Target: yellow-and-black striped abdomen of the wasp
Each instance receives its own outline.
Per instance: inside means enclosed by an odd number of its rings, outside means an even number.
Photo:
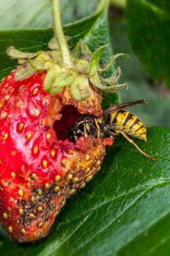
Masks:
[[[137,116],[126,110],[114,111],[109,115],[109,122],[116,132],[123,131],[127,135],[147,140],[147,130]]]

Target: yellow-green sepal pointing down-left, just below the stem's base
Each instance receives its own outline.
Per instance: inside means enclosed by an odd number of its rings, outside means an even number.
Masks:
[[[71,85],[76,80],[76,75],[70,72],[59,73],[54,79],[51,87],[48,89],[49,93],[57,93],[62,91],[64,87]]]

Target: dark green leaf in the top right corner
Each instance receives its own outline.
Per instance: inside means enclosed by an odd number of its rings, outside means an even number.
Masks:
[[[128,0],[126,19],[129,40],[144,68],[154,80],[170,86],[170,2]]]

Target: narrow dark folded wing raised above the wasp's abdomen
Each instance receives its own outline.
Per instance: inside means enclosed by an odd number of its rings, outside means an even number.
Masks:
[[[116,106],[109,107],[109,109],[105,109],[103,111],[103,115],[108,115],[108,114],[110,114],[114,111],[121,110],[121,109],[126,109],[127,107],[132,107],[132,106],[137,105],[137,104],[147,104],[147,103],[148,103],[148,101],[146,99],[143,99],[143,100],[137,100],[137,101],[131,101],[131,102],[119,104],[119,105],[116,105]]]

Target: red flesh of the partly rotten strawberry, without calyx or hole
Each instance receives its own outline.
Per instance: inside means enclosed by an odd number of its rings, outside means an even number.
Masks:
[[[0,87],[0,219],[18,242],[47,235],[66,199],[92,179],[112,144],[92,137],[69,142],[66,130],[79,113],[102,114],[101,95],[92,89],[93,101],[77,102],[67,87],[51,96],[43,90],[44,76],[16,81],[12,72]]]

